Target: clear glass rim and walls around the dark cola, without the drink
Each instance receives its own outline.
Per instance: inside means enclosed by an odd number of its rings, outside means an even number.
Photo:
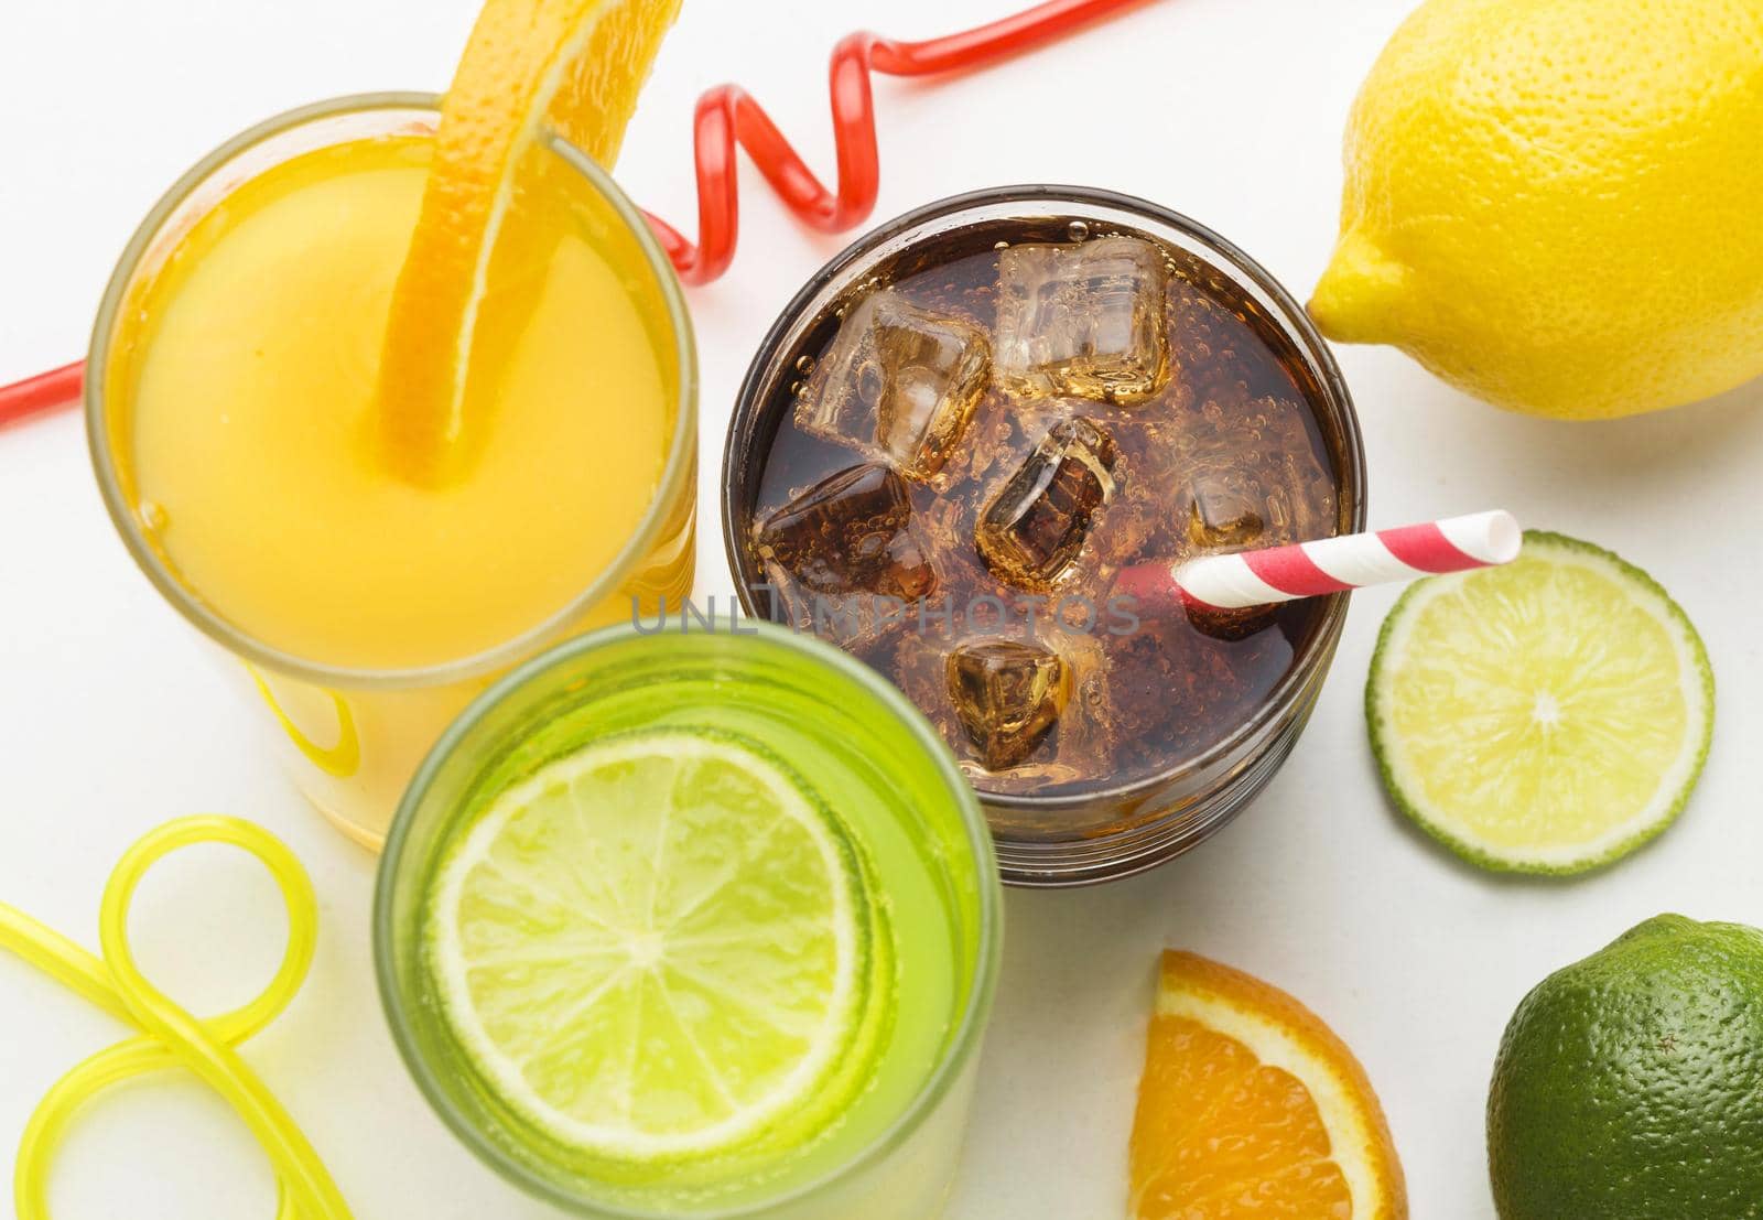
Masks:
[[[1146,236],[1241,298],[1245,316],[1278,344],[1315,416],[1333,465],[1336,529],[1365,529],[1365,453],[1347,386],[1303,309],[1264,268],[1211,229],[1144,199],[1086,187],[1000,187],[927,205],[862,236],[802,287],[760,346],[730,420],[721,481],[723,536],[748,614],[769,612],[767,575],[751,547],[762,469],[793,398],[792,383],[799,384],[823,353],[843,310],[876,284],[941,266],[950,245],[975,254],[1005,242],[1061,243],[1072,233]],[[1268,696],[1224,726],[1215,746],[1160,774],[1053,795],[989,792],[975,779],[1005,882],[1105,882],[1153,867],[1216,832],[1296,746],[1345,617],[1347,594],[1322,599]]]

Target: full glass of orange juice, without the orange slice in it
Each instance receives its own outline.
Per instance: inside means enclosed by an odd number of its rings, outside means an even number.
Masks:
[[[220,645],[301,792],[377,846],[418,762],[513,663],[691,587],[696,363],[642,213],[527,153],[483,284],[460,472],[376,450],[393,282],[437,99],[280,115],[136,231],[92,333],[86,430],[141,571]]]

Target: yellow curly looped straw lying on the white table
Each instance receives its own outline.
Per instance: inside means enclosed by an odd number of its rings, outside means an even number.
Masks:
[[[194,843],[226,843],[257,857],[287,904],[287,952],[263,993],[219,1017],[199,1019],[146,980],[129,948],[129,903],[146,871],[162,857]],[[99,1051],[56,1081],[25,1127],[12,1178],[18,1220],[48,1220],[48,1171],[74,1111],[95,1093],[130,1075],[183,1067],[238,1111],[275,1167],[279,1220],[349,1220],[324,1162],[312,1144],[233,1049],[273,1021],[300,991],[312,964],[319,917],[307,871],[268,830],[238,818],[197,816],[167,822],[123,853],[104,885],[99,943],[104,957],[0,903],[0,947],[78,991],[139,1037]]]

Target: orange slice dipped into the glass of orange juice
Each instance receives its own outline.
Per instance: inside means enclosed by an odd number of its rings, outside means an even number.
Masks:
[[[490,254],[548,127],[610,166],[681,0],[488,0],[441,108],[416,234],[391,300],[379,432],[391,467],[435,481],[460,448]]]

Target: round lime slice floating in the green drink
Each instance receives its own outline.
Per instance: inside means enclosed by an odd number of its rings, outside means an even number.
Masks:
[[[487,1082],[624,1164],[800,1134],[850,1100],[876,933],[816,795],[758,744],[679,728],[601,739],[495,797],[428,911],[448,1021]]]

